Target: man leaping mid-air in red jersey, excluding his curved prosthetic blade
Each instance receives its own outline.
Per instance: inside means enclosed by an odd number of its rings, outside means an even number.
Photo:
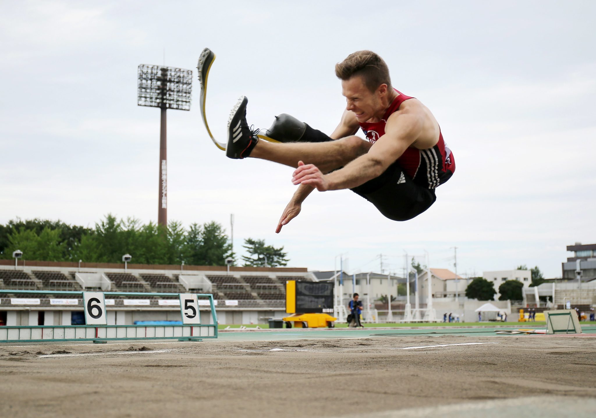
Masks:
[[[265,132],[280,143],[259,141],[259,130],[246,122],[248,99],[242,97],[232,109],[229,158],[261,158],[297,167],[292,182],[299,188],[276,232],[300,213],[302,202],[315,188],[350,189],[389,219],[412,219],[434,203],[434,189],[455,171],[453,154],[433,114],[392,87],[383,58],[358,51],[335,69],[347,106],[331,136],[281,114]],[[368,141],[354,136],[359,128]]]

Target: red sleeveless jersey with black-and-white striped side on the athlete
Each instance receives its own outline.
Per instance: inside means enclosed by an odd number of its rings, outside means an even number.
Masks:
[[[395,89],[394,89],[395,90]],[[385,124],[390,114],[399,110],[399,106],[410,96],[395,90],[398,96],[393,99],[393,102],[387,108],[383,118],[378,122],[363,122],[360,124],[362,132],[367,136],[371,144],[377,142],[381,136],[385,135]],[[443,141],[443,134],[439,128],[439,142],[429,149],[418,149],[413,146],[408,147],[401,157],[398,158],[398,163],[401,169],[408,174],[421,186],[434,189],[436,186],[442,185],[455,171],[455,160],[451,149],[445,145]]]

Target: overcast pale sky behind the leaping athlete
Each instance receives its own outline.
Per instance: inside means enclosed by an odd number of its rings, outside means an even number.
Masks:
[[[93,226],[107,213],[157,220],[159,110],[136,105],[136,67],[194,70],[190,112],[168,111],[169,220],[216,220],[234,245],[284,245],[290,266],[402,272],[430,254],[458,273],[538,265],[561,275],[566,245],[596,242],[596,2],[0,2],[0,223]],[[330,133],[344,98],[334,64],[359,49],[426,104],[457,162],[437,202],[408,222],[350,191],[314,192],[274,233],[292,169],[228,160],[198,107],[198,54],[217,54],[207,115],[249,123],[290,113]],[[375,260],[376,257],[376,260]]]

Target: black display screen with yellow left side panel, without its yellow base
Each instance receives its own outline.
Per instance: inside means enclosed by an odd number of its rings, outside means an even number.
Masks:
[[[287,313],[333,313],[333,288],[329,282],[287,280],[285,310]]]

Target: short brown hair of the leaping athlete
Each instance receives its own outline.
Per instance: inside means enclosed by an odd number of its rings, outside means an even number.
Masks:
[[[391,87],[389,68],[383,58],[373,51],[356,51],[336,64],[336,76],[347,80],[353,76],[362,76],[367,88],[374,92],[381,84]]]

